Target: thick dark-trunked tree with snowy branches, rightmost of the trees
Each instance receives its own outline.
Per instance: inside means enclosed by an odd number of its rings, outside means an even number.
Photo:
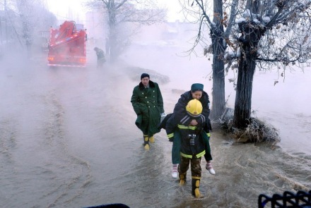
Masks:
[[[240,54],[234,113],[236,128],[245,128],[250,121],[256,66],[261,70],[274,66],[283,68],[284,75],[291,65],[303,68],[310,61],[310,6],[310,0],[240,1],[237,27],[232,35],[235,54]]]

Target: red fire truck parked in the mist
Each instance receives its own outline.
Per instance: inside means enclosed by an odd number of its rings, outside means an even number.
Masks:
[[[85,67],[86,30],[74,21],[65,21],[50,30],[48,66]]]

